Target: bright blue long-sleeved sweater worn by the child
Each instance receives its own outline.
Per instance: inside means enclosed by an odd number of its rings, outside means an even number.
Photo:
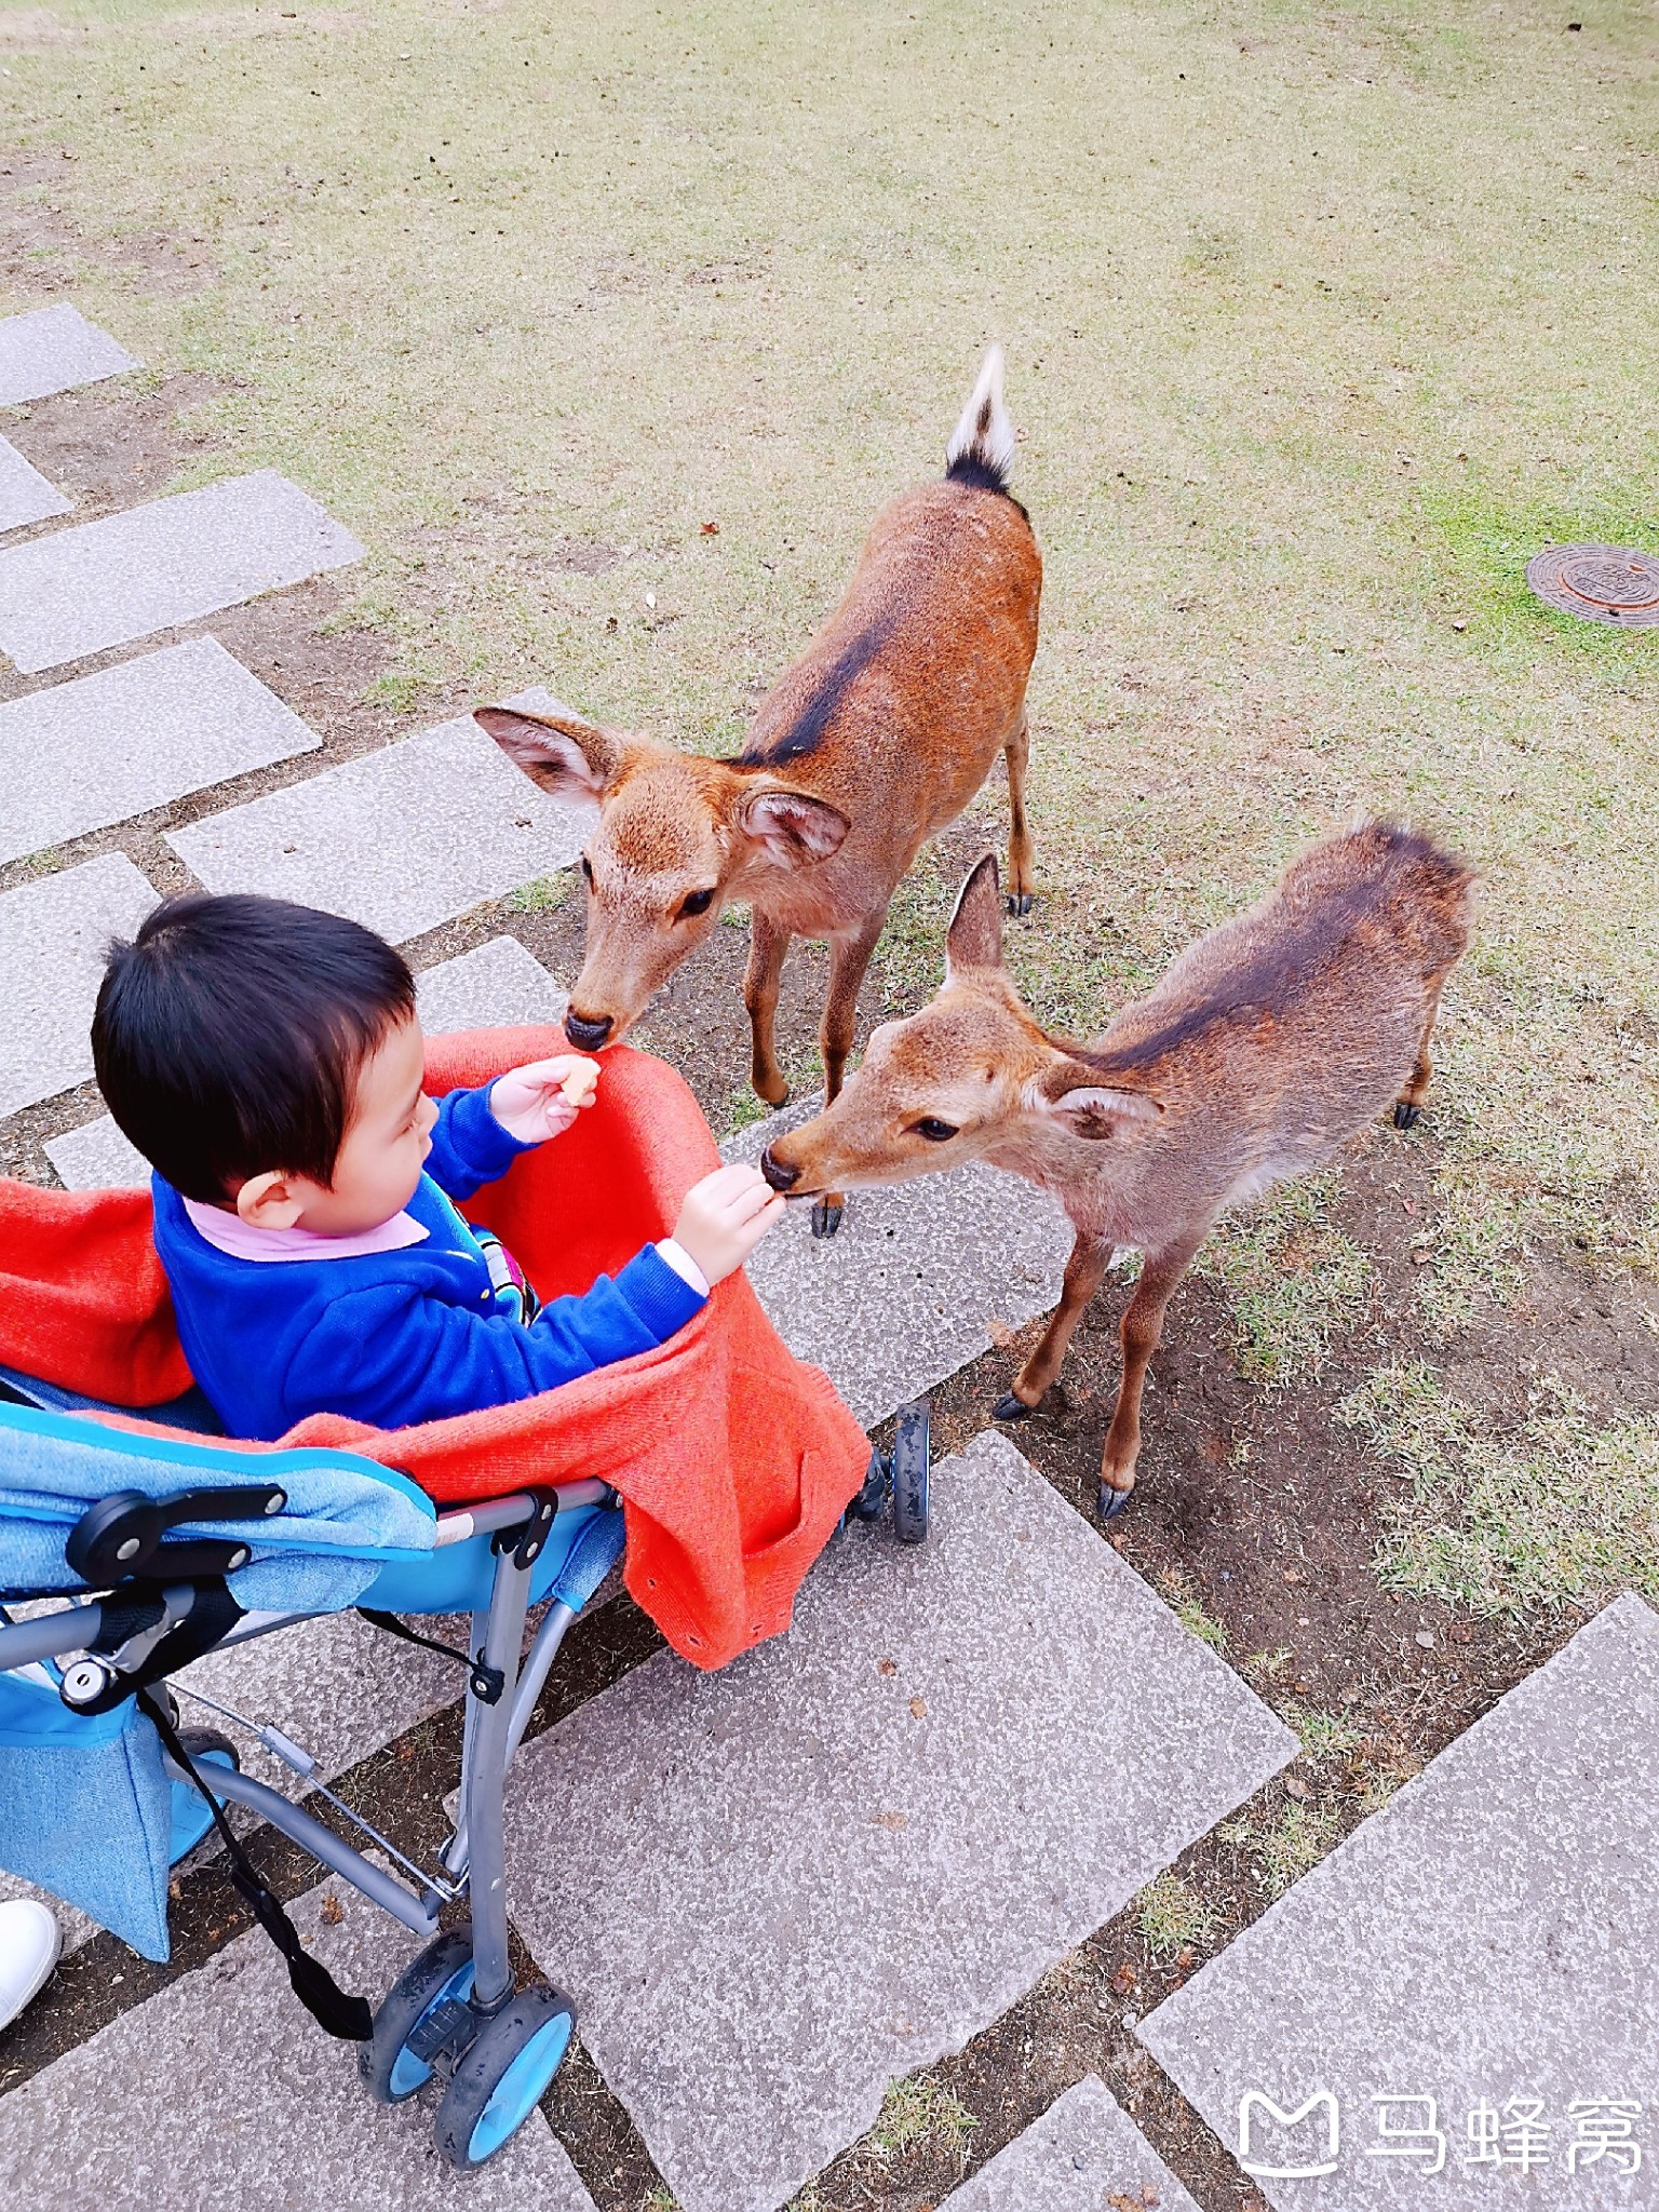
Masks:
[[[407,1208],[425,1241],[347,1259],[221,1252],[179,1192],[153,1177],[155,1250],[179,1340],[226,1431],[276,1438],[307,1413],[407,1429],[533,1398],[681,1329],[703,1298],[655,1245],[580,1298],[555,1298],[529,1325],[518,1318],[520,1292],[491,1272],[449,1199],[493,1183],[524,1150],[491,1115],[489,1086],[451,1091]]]

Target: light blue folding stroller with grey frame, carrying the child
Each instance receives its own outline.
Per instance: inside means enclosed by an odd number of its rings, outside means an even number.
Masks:
[[[250,1458],[217,1444],[195,1391],[146,1413],[199,1444],[88,1411],[122,1409],[0,1369],[0,1867],[166,1958],[168,1867],[215,1827],[294,1993],[327,2033],[361,2044],[369,2095],[400,2104],[438,2075],[438,2148],[482,2166],[529,2119],[575,2028],[562,1991],[513,1986],[502,1798],[564,1632],[622,1555],[617,1493],[588,1480],[449,1511],[349,1451]],[[453,1652],[467,1670],[460,1814],[429,1867],[332,1798],[387,1869],[243,1774],[230,1739],[184,1728],[168,1690],[206,1650],[347,1606],[418,1644],[434,1639],[398,1615],[471,1617],[469,1648]],[[281,1730],[259,1739],[314,1774]],[[226,1805],[429,1938],[376,2011],[301,1949]],[[456,1918],[462,1905],[469,1918]]]

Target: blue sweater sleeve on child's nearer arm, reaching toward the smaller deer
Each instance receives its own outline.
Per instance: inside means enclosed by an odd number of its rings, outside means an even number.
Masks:
[[[301,1340],[285,1378],[288,1418],[327,1411],[409,1429],[511,1405],[653,1352],[701,1305],[655,1245],[615,1279],[602,1274],[582,1296],[544,1305],[529,1329],[427,1296],[418,1283],[380,1283],[334,1298]]]

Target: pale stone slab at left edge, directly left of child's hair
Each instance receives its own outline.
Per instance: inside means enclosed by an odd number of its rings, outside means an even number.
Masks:
[[[104,953],[153,905],[150,885],[115,852],[0,894],[0,1115],[93,1073]]]

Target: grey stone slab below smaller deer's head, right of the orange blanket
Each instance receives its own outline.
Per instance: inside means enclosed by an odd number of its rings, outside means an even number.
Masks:
[[[759,1159],[818,1113],[803,1099],[721,1146]],[[748,1263],[750,1283],[796,1358],[823,1367],[865,1427],[942,1383],[1009,1327],[1060,1298],[1071,1223],[1033,1183],[1000,1168],[958,1168],[891,1190],[854,1190],[841,1230],[814,1239],[792,1206]]]

